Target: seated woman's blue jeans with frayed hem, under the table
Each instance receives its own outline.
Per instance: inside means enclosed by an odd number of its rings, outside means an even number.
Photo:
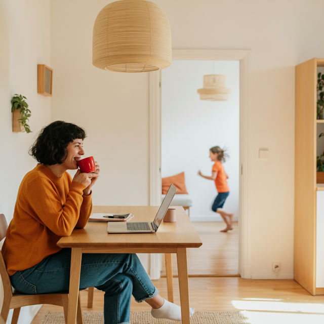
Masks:
[[[62,249],[35,266],[10,277],[12,286],[25,294],[69,290],[71,249]],[[83,254],[80,288],[105,292],[105,324],[129,323],[131,297],[137,302],[153,298],[158,290],[136,254]]]

